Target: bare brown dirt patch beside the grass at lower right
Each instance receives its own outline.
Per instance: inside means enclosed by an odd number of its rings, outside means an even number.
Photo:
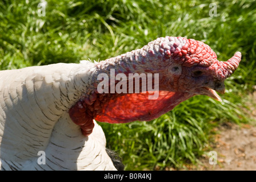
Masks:
[[[218,163],[211,165],[209,156],[204,156],[197,170],[256,170],[256,92],[249,96],[249,101],[250,108],[253,108],[250,115],[255,122],[241,126],[223,123],[219,126],[213,147]]]

